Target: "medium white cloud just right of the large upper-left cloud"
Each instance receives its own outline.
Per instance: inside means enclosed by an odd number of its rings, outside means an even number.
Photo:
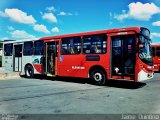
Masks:
[[[44,13],[42,15],[42,18],[45,20],[48,20],[50,22],[56,23],[57,22],[57,18],[53,13]]]

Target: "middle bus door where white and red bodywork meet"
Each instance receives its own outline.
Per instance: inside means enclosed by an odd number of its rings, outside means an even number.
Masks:
[[[58,41],[45,43],[45,73],[54,76],[57,73]]]

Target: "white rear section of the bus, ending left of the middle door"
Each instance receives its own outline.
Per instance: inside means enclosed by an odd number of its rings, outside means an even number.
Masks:
[[[8,71],[20,72],[26,77],[32,77],[32,71],[34,71],[34,74],[42,74],[43,46],[41,40],[4,42],[2,67]]]

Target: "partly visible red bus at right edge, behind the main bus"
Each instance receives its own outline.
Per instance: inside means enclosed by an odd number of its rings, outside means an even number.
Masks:
[[[154,71],[160,71],[160,44],[152,44]]]

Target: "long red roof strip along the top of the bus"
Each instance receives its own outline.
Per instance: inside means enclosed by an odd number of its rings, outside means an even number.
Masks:
[[[108,30],[99,30],[99,31],[92,31],[92,32],[82,32],[82,33],[74,33],[74,34],[64,34],[64,35],[58,35],[58,36],[48,36],[48,37],[42,37],[40,40],[47,40],[47,39],[60,39],[64,37],[74,37],[74,36],[83,36],[83,35],[90,35],[90,34],[103,34],[103,33],[112,33],[112,32],[124,32],[124,31],[138,31],[140,26],[135,27],[126,27],[126,28],[115,28],[115,29],[108,29]],[[146,28],[147,29],[147,28]]]

